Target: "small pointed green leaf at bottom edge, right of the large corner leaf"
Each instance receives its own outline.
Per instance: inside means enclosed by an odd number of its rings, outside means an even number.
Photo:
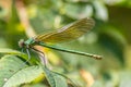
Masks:
[[[51,87],[68,87],[64,77],[60,76],[57,73],[49,71],[47,67],[44,67],[45,75]]]

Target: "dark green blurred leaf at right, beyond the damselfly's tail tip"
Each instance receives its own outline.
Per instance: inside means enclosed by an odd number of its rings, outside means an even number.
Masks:
[[[122,34],[112,26],[106,25],[100,33],[99,40],[106,49],[110,50],[123,64],[123,48],[127,41]]]

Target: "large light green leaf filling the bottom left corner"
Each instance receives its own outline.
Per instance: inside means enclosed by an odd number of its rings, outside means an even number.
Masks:
[[[0,87],[13,87],[29,83],[43,73],[38,65],[27,66],[15,55],[4,55],[0,60]]]

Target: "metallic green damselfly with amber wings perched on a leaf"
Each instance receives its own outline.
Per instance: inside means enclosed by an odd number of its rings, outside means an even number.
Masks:
[[[55,49],[58,51],[75,53],[75,54],[80,54],[80,55],[86,55],[90,58],[94,58],[96,60],[100,60],[102,55],[58,48],[58,47],[50,45],[50,44],[67,42],[67,41],[71,41],[73,39],[78,39],[79,37],[86,34],[90,29],[92,29],[94,27],[94,25],[95,25],[95,22],[93,18],[82,18],[82,20],[73,22],[56,32],[48,33],[48,34],[40,34],[35,38],[27,39],[26,41],[21,40],[21,41],[19,41],[19,46],[21,48],[25,48],[27,50],[27,53],[28,53],[28,49],[34,49],[35,51],[38,51],[37,49],[34,48],[34,46],[37,45],[37,46],[43,46],[46,48]],[[28,58],[31,58],[31,57],[28,55]]]

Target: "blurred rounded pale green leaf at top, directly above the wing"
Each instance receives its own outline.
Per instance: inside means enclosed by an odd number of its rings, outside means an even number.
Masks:
[[[63,10],[66,15],[78,20],[93,15],[93,7],[90,4],[68,3],[66,4]]]

